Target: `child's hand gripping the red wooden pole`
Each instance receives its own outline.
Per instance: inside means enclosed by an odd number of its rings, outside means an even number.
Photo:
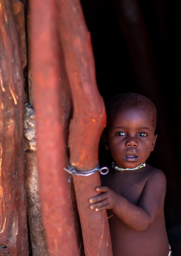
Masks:
[[[90,209],[95,211],[113,209],[117,202],[117,194],[106,186],[96,188],[101,194],[89,199]]]

